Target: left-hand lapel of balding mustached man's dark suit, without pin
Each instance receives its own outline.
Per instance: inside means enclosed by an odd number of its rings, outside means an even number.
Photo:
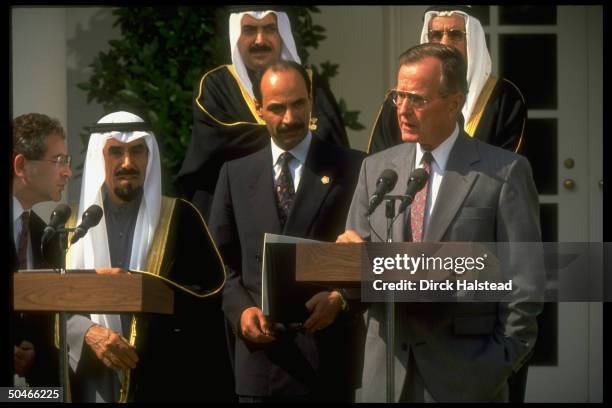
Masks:
[[[247,196],[253,209],[253,219],[260,225],[261,231],[278,234],[281,229],[272,181],[274,176],[270,148],[264,148],[253,156],[252,168],[254,171],[249,177]]]

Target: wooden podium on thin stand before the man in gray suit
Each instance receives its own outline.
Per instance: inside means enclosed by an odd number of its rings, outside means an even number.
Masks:
[[[497,256],[495,256],[495,252],[491,251],[492,248],[487,247],[485,243],[368,242],[337,244],[325,242],[290,242],[289,240],[283,240],[282,238],[279,238],[276,241],[277,242],[266,244],[264,249],[265,257],[268,258],[268,269],[272,269],[272,276],[275,274],[277,276],[280,274],[291,274],[291,272],[293,272],[292,277],[295,279],[294,283],[296,285],[317,284],[328,288],[359,288],[362,289],[361,298],[365,299],[366,301],[368,301],[368,298],[364,297],[364,295],[367,294],[367,291],[363,292],[364,286],[362,286],[362,284],[365,283],[365,286],[368,286],[369,283],[382,277],[390,279],[391,281],[399,280],[399,278],[406,278],[406,281],[412,280],[412,283],[419,279],[439,282],[447,278],[453,278],[452,275],[455,273],[455,269],[452,269],[452,271],[436,271],[436,268],[427,267],[423,268],[422,271],[419,270],[417,274],[412,275],[406,269],[403,269],[403,267],[386,266],[387,270],[385,270],[384,274],[382,271],[379,272],[383,275],[375,275],[376,272],[373,272],[372,270],[372,261],[375,258],[387,258],[388,260],[392,261],[395,259],[395,255],[399,257],[400,254],[402,256],[405,255],[412,258],[421,259],[428,257],[447,259],[447,257],[465,257],[466,255],[478,257],[484,255],[483,259],[486,259],[486,267],[483,267],[483,269],[480,270],[476,268],[476,271],[465,271],[465,274],[464,272],[461,272],[461,277],[467,280],[488,279],[492,282],[502,278],[500,260],[497,258]],[[278,262],[277,259],[282,257],[293,261],[293,264],[291,265],[287,261]],[[401,259],[403,261],[403,258]],[[276,264],[279,265],[277,266]],[[402,263],[401,265],[405,264]],[[274,272],[275,268],[279,270]],[[270,276],[270,270],[266,270],[266,273],[268,276]],[[270,279],[270,281],[274,281],[274,279]],[[279,282],[279,280],[276,280],[276,282]],[[414,293],[418,295],[420,293],[418,290],[418,285],[416,287],[417,290],[414,290]],[[284,287],[280,287],[275,291],[270,290],[269,292],[282,292],[284,289]],[[456,292],[459,292],[459,290]],[[456,292],[449,291],[451,294]],[[386,338],[385,374],[387,378],[387,402],[395,401],[397,395],[394,380],[395,303],[398,300],[418,301],[418,296],[414,298],[415,300],[406,300],[406,297],[396,295],[393,290],[384,292],[384,299],[382,299],[382,302],[385,303],[386,330],[384,335]],[[357,298],[357,296],[350,297],[353,300]],[[431,298],[426,299],[425,301],[456,301],[455,299],[444,297],[440,299],[442,300]],[[472,297],[467,296],[466,299],[467,300],[464,301],[471,301]],[[279,305],[281,302],[270,303]],[[286,308],[286,305],[282,304],[282,308]]]

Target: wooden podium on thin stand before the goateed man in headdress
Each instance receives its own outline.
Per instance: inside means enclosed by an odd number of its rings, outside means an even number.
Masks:
[[[65,313],[172,314],[174,292],[159,279],[145,275],[33,270],[13,274],[13,309],[60,313],[60,383],[66,401],[69,390]]]

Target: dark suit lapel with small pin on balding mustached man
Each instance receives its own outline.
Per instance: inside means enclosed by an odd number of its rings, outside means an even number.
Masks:
[[[321,144],[322,142],[313,136],[295,202],[283,231],[286,235],[304,236],[308,233],[321,204],[336,182],[333,167],[327,165],[332,163],[334,158],[328,157],[329,152],[322,148]]]

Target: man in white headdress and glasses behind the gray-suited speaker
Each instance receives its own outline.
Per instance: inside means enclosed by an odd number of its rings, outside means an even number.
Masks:
[[[441,43],[456,48],[468,64],[469,91],[461,111],[465,132],[495,146],[520,151],[527,109],[520,90],[491,74],[491,56],[480,21],[469,6],[437,6],[423,17],[421,44]],[[396,108],[389,93],[374,123],[369,153],[402,143]]]

